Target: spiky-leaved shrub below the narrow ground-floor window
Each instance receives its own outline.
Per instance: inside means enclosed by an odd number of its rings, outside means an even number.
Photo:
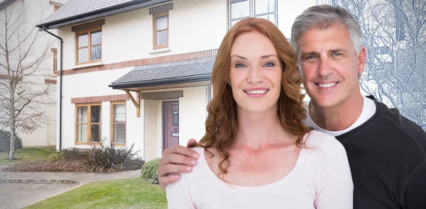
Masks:
[[[140,169],[144,164],[143,159],[132,153],[133,145],[130,149],[127,147],[118,148],[113,145],[92,145],[92,152],[87,157],[88,171],[107,173],[114,171],[126,171]]]

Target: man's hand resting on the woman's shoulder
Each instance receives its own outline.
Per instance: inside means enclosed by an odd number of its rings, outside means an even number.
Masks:
[[[191,139],[187,146],[193,143],[196,141]],[[165,149],[158,166],[158,181],[161,188],[165,189],[168,184],[178,181],[180,179],[178,173],[190,173],[192,166],[197,164],[198,157],[198,153],[193,149],[180,145]]]

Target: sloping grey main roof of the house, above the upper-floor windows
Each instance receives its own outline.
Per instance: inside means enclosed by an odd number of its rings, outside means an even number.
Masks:
[[[55,29],[172,0],[70,0],[36,27]]]

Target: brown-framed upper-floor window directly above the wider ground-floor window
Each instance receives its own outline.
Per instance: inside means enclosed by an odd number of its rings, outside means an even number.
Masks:
[[[100,62],[102,58],[102,30],[96,28],[76,33],[76,63]]]

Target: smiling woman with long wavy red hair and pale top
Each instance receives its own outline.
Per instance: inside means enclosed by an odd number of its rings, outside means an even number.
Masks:
[[[270,21],[226,33],[212,72],[206,134],[190,174],[166,187],[169,208],[352,208],[344,147],[302,124],[296,56]]]

